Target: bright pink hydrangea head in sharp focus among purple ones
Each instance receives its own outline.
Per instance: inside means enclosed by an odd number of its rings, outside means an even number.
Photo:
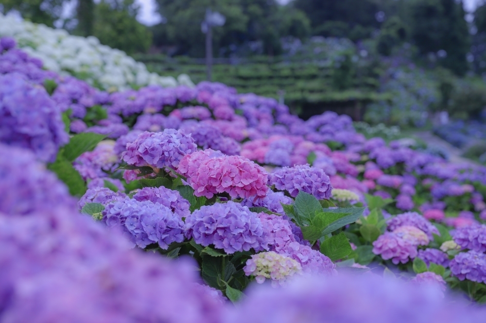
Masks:
[[[211,198],[214,194],[227,193],[232,198],[262,198],[268,187],[267,172],[263,167],[241,156],[226,156],[213,150],[185,156],[178,171],[187,177],[194,195]]]

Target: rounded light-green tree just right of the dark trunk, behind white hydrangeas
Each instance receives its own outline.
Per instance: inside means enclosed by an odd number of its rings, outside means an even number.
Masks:
[[[124,50],[127,54],[145,52],[152,44],[152,34],[137,19],[139,8],[134,0],[107,2],[95,7],[93,36],[104,45]]]

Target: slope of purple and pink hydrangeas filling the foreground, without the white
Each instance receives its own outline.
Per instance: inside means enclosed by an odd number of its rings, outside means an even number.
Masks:
[[[485,167],[32,54],[0,38],[0,322],[484,320]]]

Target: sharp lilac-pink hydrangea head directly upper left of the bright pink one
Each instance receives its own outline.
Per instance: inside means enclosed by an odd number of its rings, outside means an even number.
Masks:
[[[179,166],[186,155],[196,151],[197,146],[184,131],[165,129],[163,132],[142,132],[133,143],[126,145],[121,153],[123,161],[134,166],[153,168]]]

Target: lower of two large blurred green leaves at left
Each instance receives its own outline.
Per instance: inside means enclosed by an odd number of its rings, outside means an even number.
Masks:
[[[86,184],[78,171],[72,167],[72,163],[59,153],[57,159],[47,166],[57,177],[68,186],[69,194],[82,196],[86,193]]]

